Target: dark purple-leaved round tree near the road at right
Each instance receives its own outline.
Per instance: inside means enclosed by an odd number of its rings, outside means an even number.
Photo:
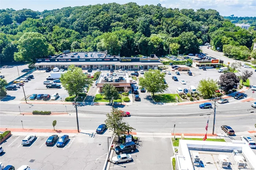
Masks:
[[[218,85],[220,86],[220,89],[229,91],[233,89],[239,81],[240,79],[235,75],[235,73],[225,73],[220,75]]]

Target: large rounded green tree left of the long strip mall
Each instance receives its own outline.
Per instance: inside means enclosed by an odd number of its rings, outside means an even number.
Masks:
[[[38,32],[27,32],[18,40],[18,53],[24,61],[35,62],[37,58],[45,58],[48,47],[46,39]]]

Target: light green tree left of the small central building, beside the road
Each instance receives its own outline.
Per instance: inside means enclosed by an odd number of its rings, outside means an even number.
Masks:
[[[84,92],[86,86],[92,85],[91,78],[88,78],[81,68],[74,65],[70,65],[68,71],[61,74],[60,81],[70,96],[78,96],[79,93]]]

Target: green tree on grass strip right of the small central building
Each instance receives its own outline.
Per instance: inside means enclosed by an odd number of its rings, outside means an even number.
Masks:
[[[165,74],[160,73],[159,70],[149,69],[148,72],[144,73],[144,77],[139,78],[139,85],[145,88],[149,93],[163,93],[168,88],[168,84],[165,84]]]

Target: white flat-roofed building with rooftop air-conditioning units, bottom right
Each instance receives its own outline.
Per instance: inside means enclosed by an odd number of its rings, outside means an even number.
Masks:
[[[256,155],[244,142],[179,140],[178,170],[256,169]]]

